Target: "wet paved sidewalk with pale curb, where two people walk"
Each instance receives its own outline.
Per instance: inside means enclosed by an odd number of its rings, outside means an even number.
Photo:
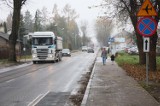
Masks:
[[[160,106],[133,78],[110,58],[97,57],[81,106]]]

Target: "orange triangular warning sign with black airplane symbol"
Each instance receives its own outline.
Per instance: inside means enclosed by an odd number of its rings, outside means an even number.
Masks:
[[[155,11],[150,0],[145,0],[142,4],[140,10],[137,13],[137,16],[157,16],[157,12]]]

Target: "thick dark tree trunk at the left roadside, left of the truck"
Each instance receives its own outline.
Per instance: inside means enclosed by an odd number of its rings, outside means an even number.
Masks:
[[[20,22],[20,11],[21,11],[21,0],[14,0],[14,10],[12,17],[12,32],[9,36],[9,61],[17,62],[16,60],[16,42],[18,36],[19,22]]]

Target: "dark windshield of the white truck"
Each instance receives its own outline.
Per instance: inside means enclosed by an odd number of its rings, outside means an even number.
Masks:
[[[52,45],[53,44],[53,39],[52,37],[33,37],[32,39],[32,44],[33,45]]]

